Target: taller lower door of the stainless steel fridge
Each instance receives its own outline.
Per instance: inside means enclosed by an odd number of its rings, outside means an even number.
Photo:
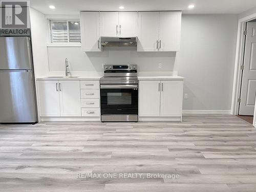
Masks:
[[[0,123],[37,122],[31,70],[0,70]]]

